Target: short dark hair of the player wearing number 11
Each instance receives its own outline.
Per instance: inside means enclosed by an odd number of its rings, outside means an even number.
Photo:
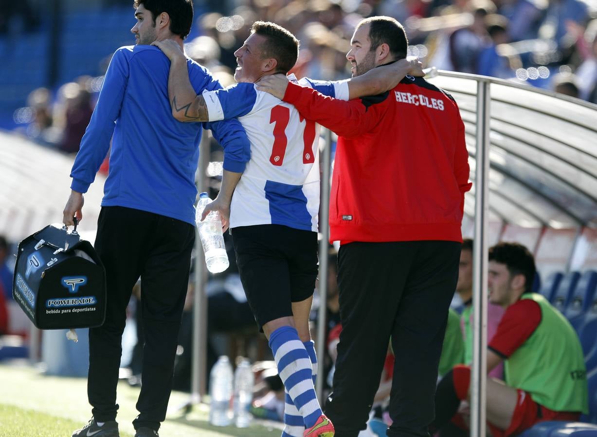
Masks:
[[[257,33],[266,39],[261,55],[278,61],[279,73],[288,73],[298,58],[298,39],[278,24],[270,21],[255,21],[251,33]]]

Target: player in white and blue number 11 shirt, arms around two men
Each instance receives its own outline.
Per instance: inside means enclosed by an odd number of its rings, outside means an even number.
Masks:
[[[229,218],[248,302],[269,339],[286,389],[282,435],[331,436],[333,424],[313,388],[316,357],[309,334],[318,272],[319,126],[254,86],[264,75],[288,73],[297,60],[298,41],[277,24],[257,21],[235,52],[240,83],[202,95],[190,86],[180,48],[168,41],[154,45],[171,60],[168,94],[177,120],[238,117],[247,131],[251,160],[242,178],[224,171],[220,193],[204,216],[220,210],[224,228]],[[408,73],[422,74],[418,61],[404,60],[358,80],[301,83],[348,100],[392,88]]]

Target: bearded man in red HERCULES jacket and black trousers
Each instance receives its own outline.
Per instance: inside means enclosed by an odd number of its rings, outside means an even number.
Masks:
[[[398,21],[371,17],[358,24],[351,47],[346,57],[359,76],[405,58],[408,41]],[[257,85],[339,136],[330,240],[341,243],[343,331],[325,413],[338,437],[365,429],[391,337],[396,361],[387,435],[428,436],[471,186],[458,107],[412,76],[389,92],[349,102],[281,75]]]

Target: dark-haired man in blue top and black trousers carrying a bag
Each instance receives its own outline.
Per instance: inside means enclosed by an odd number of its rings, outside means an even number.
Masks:
[[[109,149],[109,176],[97,224],[96,250],[106,267],[103,326],[90,329],[88,398],[93,419],[73,436],[118,436],[116,384],[125,311],[137,279],[146,342],[136,437],[155,436],[170,398],[177,335],[195,240],[195,171],[202,128],[224,147],[224,169],[242,172],[250,144],[236,119],[180,123],[168,101],[168,58],[149,44],[174,39],[182,48],[192,24],[192,0],[136,0],[137,45],[119,48],[81,140],[70,176],[63,222],[81,220],[83,193]],[[221,88],[199,64],[187,67],[197,94]]]

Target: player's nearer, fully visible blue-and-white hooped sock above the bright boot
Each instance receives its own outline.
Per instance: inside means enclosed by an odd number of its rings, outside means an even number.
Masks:
[[[311,359],[298,338],[297,330],[291,326],[276,329],[269,337],[269,347],[278,365],[278,373],[287,390],[288,399],[293,402],[295,410],[303,419],[302,426],[313,426],[322,412],[313,387]],[[288,405],[285,407],[284,423],[293,428],[298,427],[299,416],[289,414],[287,418],[287,408]],[[291,412],[294,411],[289,411]],[[297,432],[297,429],[289,430],[292,432],[288,433],[290,436]]]

